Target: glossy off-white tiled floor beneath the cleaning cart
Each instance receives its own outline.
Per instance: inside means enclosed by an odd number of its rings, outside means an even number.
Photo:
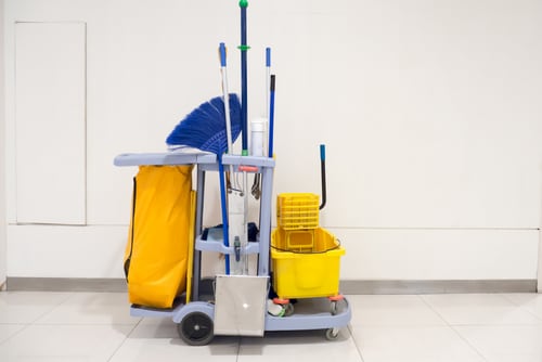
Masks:
[[[0,361],[542,362],[542,295],[347,296],[322,331],[186,346],[170,319],[132,318],[122,293],[0,293]]]

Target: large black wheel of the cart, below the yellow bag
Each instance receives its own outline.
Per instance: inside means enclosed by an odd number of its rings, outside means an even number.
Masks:
[[[212,320],[205,313],[186,314],[177,325],[181,339],[191,346],[205,346],[215,337]]]

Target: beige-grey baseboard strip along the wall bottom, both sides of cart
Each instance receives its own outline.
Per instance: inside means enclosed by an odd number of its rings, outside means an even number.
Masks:
[[[127,292],[124,279],[8,277],[8,290]],[[451,294],[535,293],[537,280],[477,281],[340,281],[340,293],[354,294]]]

